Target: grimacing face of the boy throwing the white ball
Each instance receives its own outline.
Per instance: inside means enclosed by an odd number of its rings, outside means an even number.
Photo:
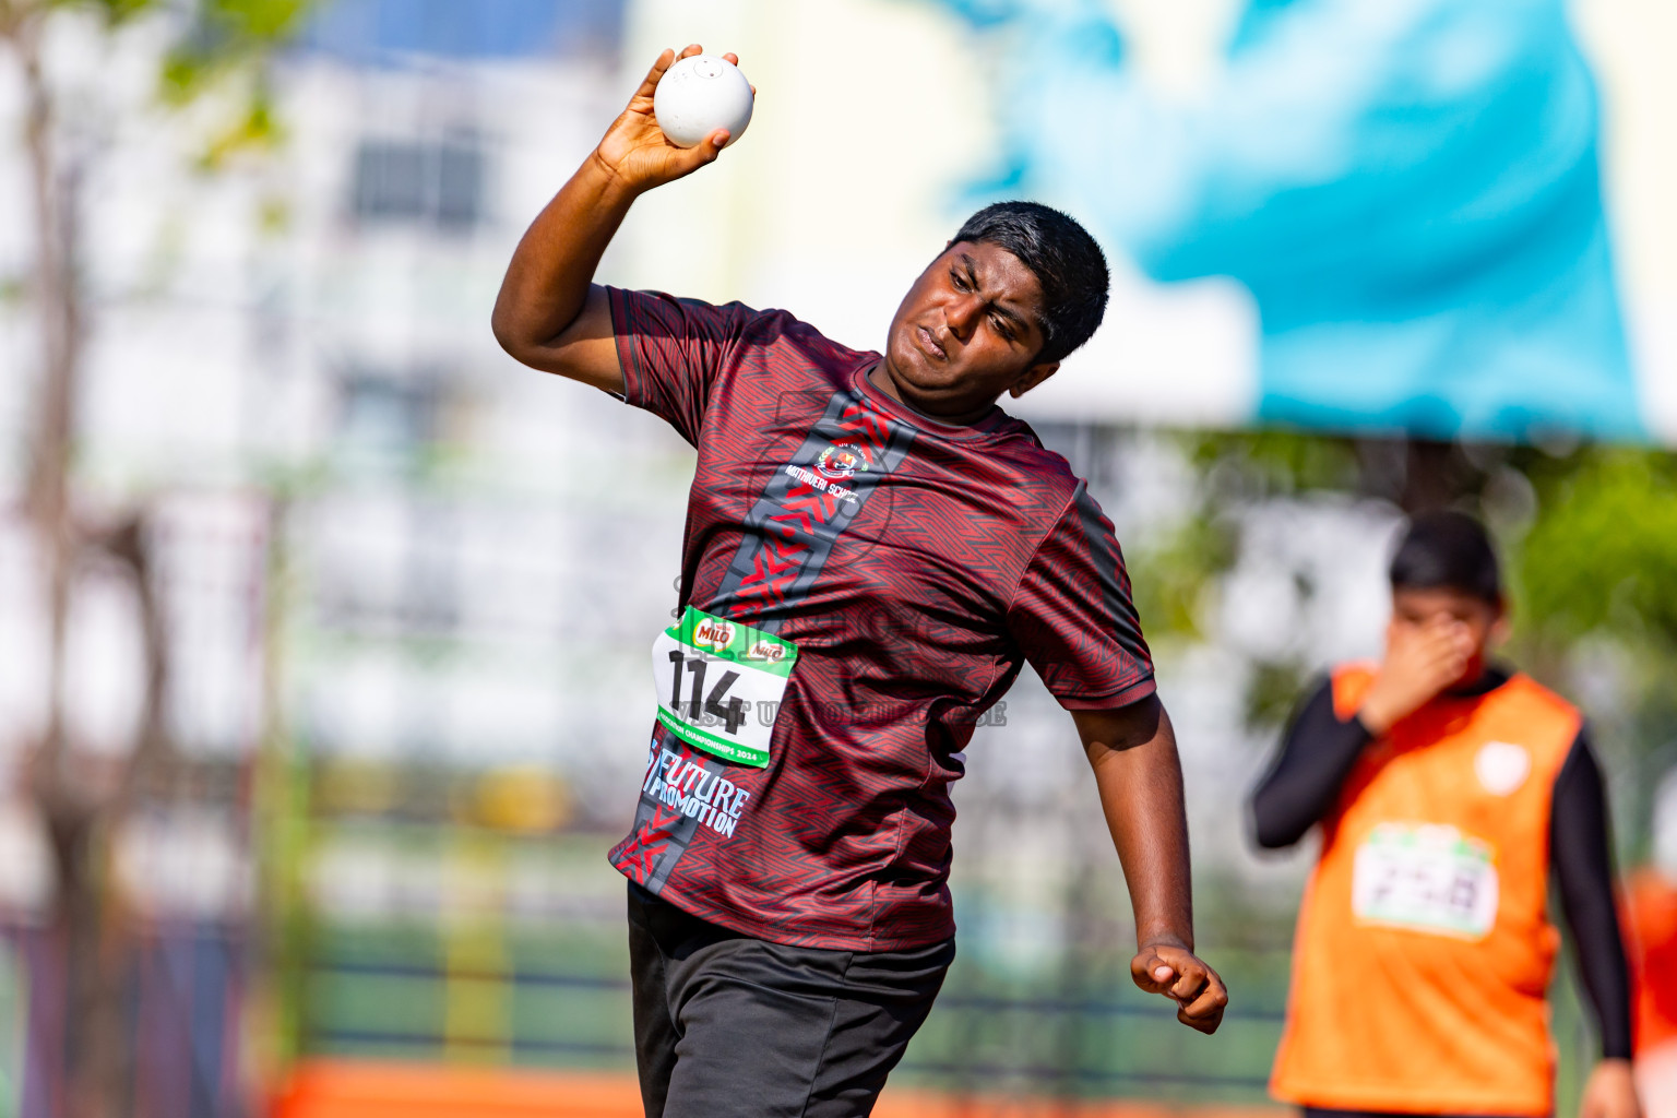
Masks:
[[[929,416],[976,419],[1003,392],[1028,392],[1060,367],[1036,360],[1041,302],[1018,256],[956,241],[902,297],[874,384]]]

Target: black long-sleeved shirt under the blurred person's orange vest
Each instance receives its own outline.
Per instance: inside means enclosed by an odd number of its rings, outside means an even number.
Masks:
[[[1462,694],[1486,694],[1509,679],[1489,669]],[[1281,739],[1281,753],[1253,793],[1258,845],[1291,846],[1321,821],[1338,800],[1345,778],[1373,741],[1352,716],[1333,711],[1333,686],[1323,682],[1300,706]],[[1613,857],[1607,825],[1602,769],[1580,729],[1555,778],[1550,808],[1550,868],[1560,892],[1561,915],[1571,929],[1573,960],[1595,1009],[1602,1058],[1630,1058],[1630,970],[1613,902]]]

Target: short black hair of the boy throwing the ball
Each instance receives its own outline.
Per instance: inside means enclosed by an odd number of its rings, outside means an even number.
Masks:
[[[998,201],[968,218],[954,240],[1005,248],[1036,275],[1043,288],[1043,347],[1035,364],[1075,350],[1107,313],[1107,256],[1088,230],[1051,206]]]

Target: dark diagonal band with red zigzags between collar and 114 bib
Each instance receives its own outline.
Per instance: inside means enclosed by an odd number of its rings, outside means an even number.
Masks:
[[[745,540],[716,590],[714,612],[776,632],[820,577],[833,543],[869,494],[902,464],[914,429],[869,409],[854,389],[833,392],[798,453],[776,469],[745,518]],[[830,448],[859,454],[864,469],[844,484],[849,494],[797,478],[817,474]]]

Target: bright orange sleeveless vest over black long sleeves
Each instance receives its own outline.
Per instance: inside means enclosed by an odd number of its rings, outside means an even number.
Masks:
[[[1333,674],[1350,717],[1368,665]],[[1271,1091],[1333,1110],[1550,1115],[1550,796],[1581,717],[1526,675],[1441,696],[1321,823]]]

